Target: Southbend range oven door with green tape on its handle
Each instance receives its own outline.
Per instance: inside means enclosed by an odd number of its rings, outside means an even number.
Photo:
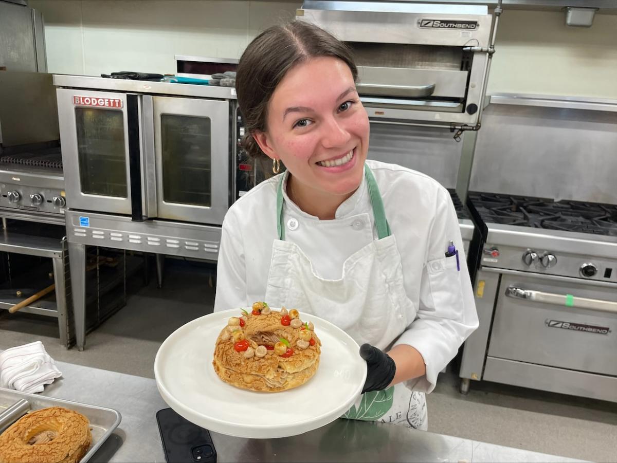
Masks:
[[[502,274],[489,356],[617,376],[617,291]]]

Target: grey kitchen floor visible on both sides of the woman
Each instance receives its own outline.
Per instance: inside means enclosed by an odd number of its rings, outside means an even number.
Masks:
[[[212,311],[214,289],[204,264],[167,261],[165,282],[130,296],[128,305],[88,335],[86,350],[66,350],[52,319],[0,313],[0,348],[42,340],[54,359],[154,377],[160,343],[177,327]],[[455,374],[440,375],[428,395],[429,430],[542,453],[616,461],[617,404],[495,383],[458,393]]]

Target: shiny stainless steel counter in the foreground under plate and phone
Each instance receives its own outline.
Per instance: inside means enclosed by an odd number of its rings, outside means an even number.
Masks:
[[[114,408],[122,422],[92,462],[164,462],[155,413],[167,404],[154,380],[68,363],[43,395]],[[430,419],[430,416],[429,416]],[[439,461],[576,462],[580,460],[389,424],[339,419],[299,436],[251,440],[212,433],[219,462]]]

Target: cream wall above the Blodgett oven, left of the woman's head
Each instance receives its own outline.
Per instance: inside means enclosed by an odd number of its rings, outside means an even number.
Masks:
[[[50,73],[175,73],[174,55],[240,57],[301,1],[31,0],[45,18]]]

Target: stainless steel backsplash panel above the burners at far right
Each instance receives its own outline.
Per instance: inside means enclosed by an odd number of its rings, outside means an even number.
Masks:
[[[617,204],[617,113],[489,105],[469,189]]]

